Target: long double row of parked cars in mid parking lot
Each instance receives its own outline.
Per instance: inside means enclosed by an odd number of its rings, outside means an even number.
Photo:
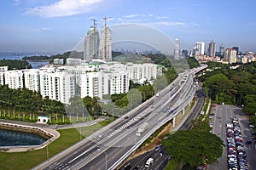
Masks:
[[[235,117],[227,124],[227,157],[230,170],[247,170],[246,152],[241,138],[241,129]]]

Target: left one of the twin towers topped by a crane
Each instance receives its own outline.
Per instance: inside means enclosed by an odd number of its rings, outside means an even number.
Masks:
[[[91,59],[99,58],[99,31],[96,29],[94,20],[94,26],[90,27],[84,37],[84,60],[90,61]]]

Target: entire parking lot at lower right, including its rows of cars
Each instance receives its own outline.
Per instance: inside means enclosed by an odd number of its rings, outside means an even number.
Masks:
[[[253,129],[250,129],[247,116],[242,113],[241,108],[233,105],[214,105],[210,114],[212,133],[217,134],[224,141],[225,147],[222,157],[218,159],[218,163],[212,164],[209,168],[211,170],[229,169],[228,162],[230,165],[236,165],[237,162],[237,169],[239,169],[241,160],[241,168],[255,169],[256,150],[252,139]],[[228,123],[230,124],[227,128]],[[252,141],[252,143],[250,144],[247,141]],[[243,150],[245,153],[242,155]],[[228,155],[230,158],[228,158]],[[247,161],[247,164],[244,160]],[[233,167],[236,169],[236,166]]]

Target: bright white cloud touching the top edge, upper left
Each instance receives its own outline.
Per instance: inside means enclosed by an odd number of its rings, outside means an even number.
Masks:
[[[90,13],[100,5],[103,0],[59,0],[47,6],[26,9],[25,14],[41,17],[61,17],[74,14]]]

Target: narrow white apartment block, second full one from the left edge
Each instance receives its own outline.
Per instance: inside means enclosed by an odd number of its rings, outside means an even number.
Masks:
[[[26,69],[22,71],[24,74],[24,87],[29,90],[38,92],[40,90],[39,70]]]

